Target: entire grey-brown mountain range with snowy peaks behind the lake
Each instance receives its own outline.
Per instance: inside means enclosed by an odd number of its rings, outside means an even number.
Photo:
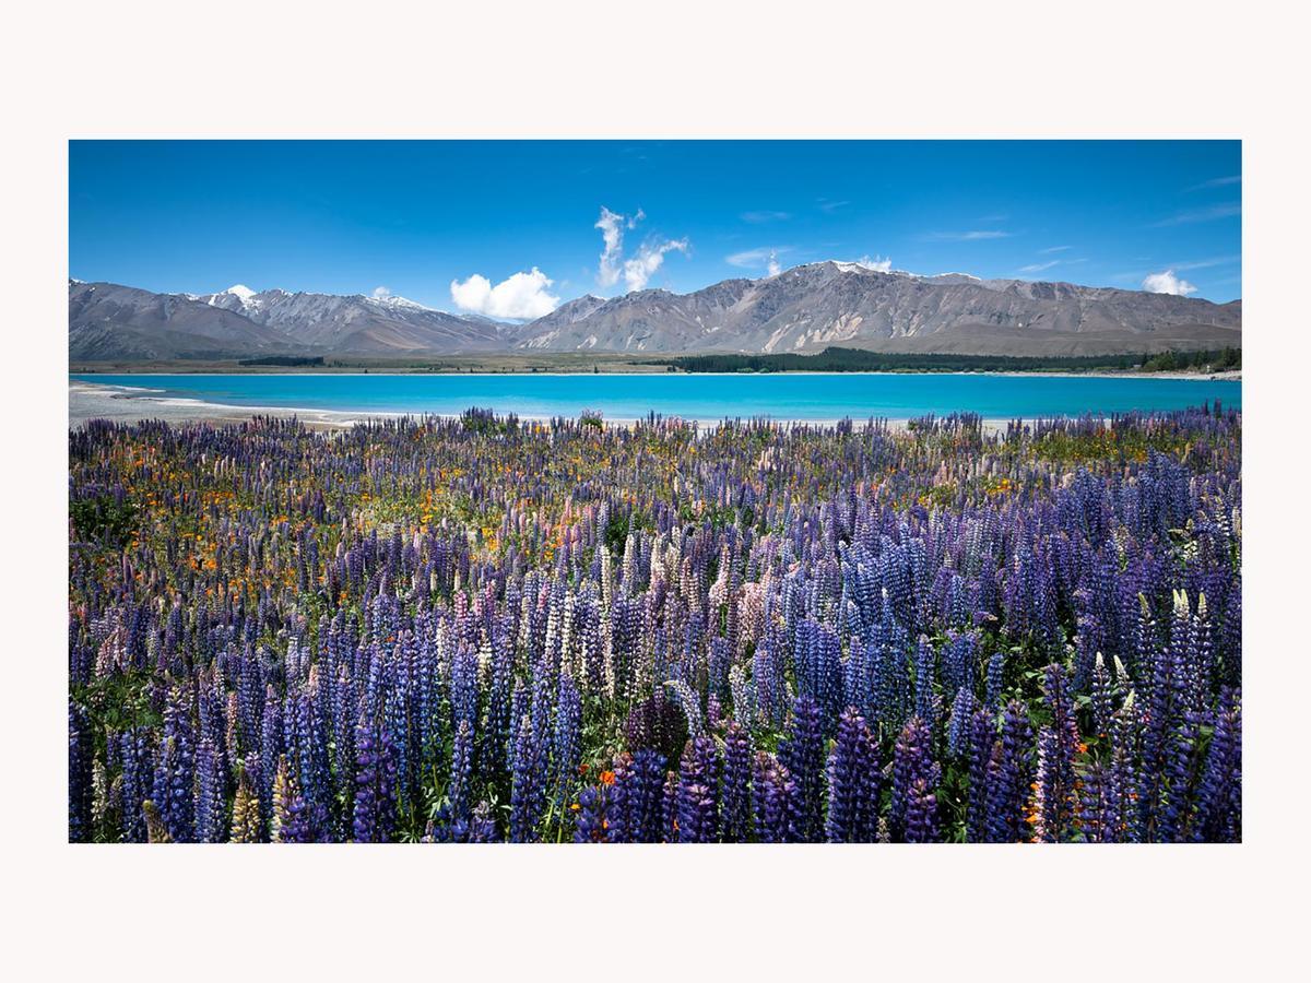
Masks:
[[[451,315],[396,296],[233,286],[153,294],[68,283],[76,360],[464,353],[1109,355],[1242,346],[1243,304],[968,274],[922,277],[818,262],[691,294],[582,296],[535,321]]]

